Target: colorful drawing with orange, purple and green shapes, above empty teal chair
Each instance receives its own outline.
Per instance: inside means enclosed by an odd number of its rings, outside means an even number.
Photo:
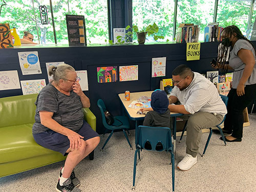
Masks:
[[[117,66],[113,67],[97,67],[98,82],[116,82]]]

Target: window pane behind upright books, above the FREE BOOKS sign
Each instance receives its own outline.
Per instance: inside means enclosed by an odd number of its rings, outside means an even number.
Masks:
[[[180,23],[200,26],[199,41],[204,40],[204,28],[213,22],[215,0],[178,1],[177,28]]]

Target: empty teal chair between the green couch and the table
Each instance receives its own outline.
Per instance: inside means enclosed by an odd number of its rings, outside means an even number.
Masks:
[[[109,135],[108,139],[106,139],[104,145],[102,146],[100,152],[103,151],[103,148],[105,147],[106,143],[108,143],[108,141],[110,140],[111,136],[113,135],[115,130],[123,130],[123,134],[128,142],[128,144],[131,147],[131,150],[133,150],[133,147],[129,141],[129,138],[127,136],[127,134],[125,133],[125,130],[129,133],[129,129],[130,129],[130,123],[129,120],[126,116],[115,116],[114,117],[114,123],[112,125],[109,125],[106,122],[106,118],[105,118],[105,114],[104,112],[106,111],[106,106],[104,104],[104,101],[102,99],[99,99],[98,102],[98,107],[101,113],[101,117],[102,117],[102,123],[104,125],[104,127],[106,128],[106,131],[111,130],[111,134]],[[105,134],[104,134],[105,135]],[[102,137],[104,137],[104,135]]]

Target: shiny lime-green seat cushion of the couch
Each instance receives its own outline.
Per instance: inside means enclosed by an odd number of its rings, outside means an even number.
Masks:
[[[32,135],[33,123],[2,127],[0,134],[0,164],[54,152],[38,145]]]

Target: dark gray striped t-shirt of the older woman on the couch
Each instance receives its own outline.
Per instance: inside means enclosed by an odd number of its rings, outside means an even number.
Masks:
[[[77,132],[83,123],[80,97],[70,91],[70,96],[59,92],[51,83],[47,84],[37,96],[35,123],[32,133],[42,133],[49,129],[41,124],[39,111],[53,112],[52,118],[62,126]]]

